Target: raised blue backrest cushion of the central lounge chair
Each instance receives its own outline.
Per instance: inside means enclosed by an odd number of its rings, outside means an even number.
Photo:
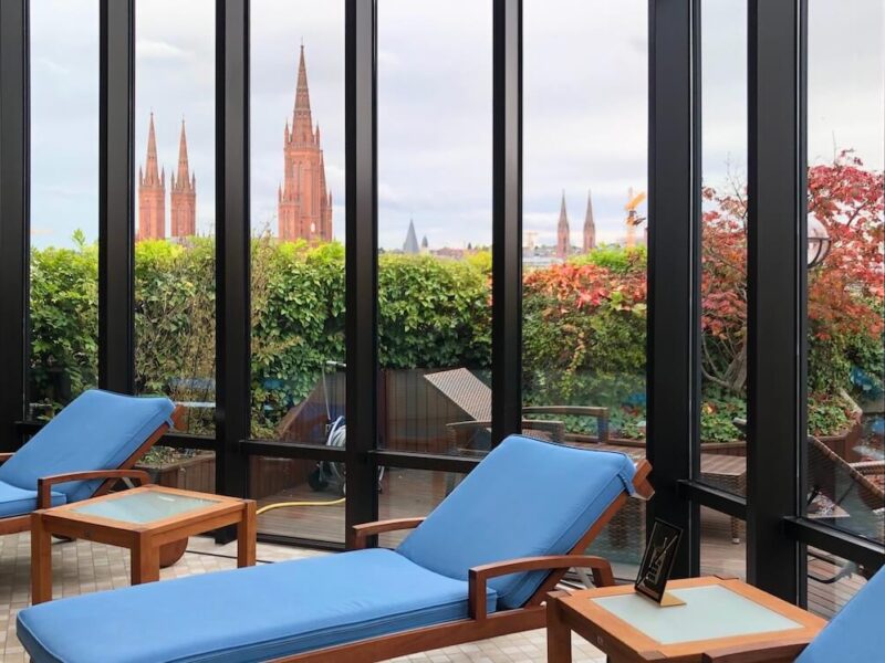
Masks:
[[[466,580],[471,567],[565,555],[624,491],[636,467],[624,454],[511,435],[397,548],[415,564]],[[546,577],[489,581],[504,608],[519,608]]]

